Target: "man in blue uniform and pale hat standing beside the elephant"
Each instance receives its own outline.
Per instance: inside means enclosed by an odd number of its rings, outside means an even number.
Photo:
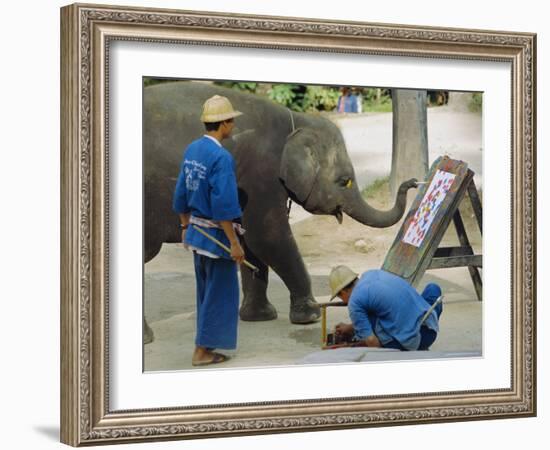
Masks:
[[[193,251],[197,284],[197,332],[192,364],[224,362],[228,356],[214,349],[237,347],[239,284],[237,264],[244,251],[235,223],[242,211],[237,194],[235,160],[220,142],[231,135],[235,111],[226,97],[215,95],[203,106],[201,121],[206,134],[184,152],[174,193],[182,242]],[[199,233],[193,226],[230,247],[231,254]]]

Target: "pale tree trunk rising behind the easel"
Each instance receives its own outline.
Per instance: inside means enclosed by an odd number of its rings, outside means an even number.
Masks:
[[[393,150],[390,189],[393,198],[409,178],[424,180],[428,173],[426,91],[392,90]]]

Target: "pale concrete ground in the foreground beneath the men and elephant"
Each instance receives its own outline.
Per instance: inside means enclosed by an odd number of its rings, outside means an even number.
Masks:
[[[165,271],[167,265],[179,270]],[[224,363],[224,367],[281,366],[301,361],[311,363],[307,360],[308,356],[320,350],[321,323],[291,324],[288,320],[288,290],[277,275],[270,273],[268,296],[279,317],[268,322],[240,321],[237,350],[227,352],[232,359]],[[311,279],[316,299],[319,302],[328,301],[328,275],[312,275]],[[449,356],[449,353],[452,356],[453,352],[480,354],[482,302],[475,299],[467,269],[431,271],[422,280],[421,287],[432,281],[439,283],[445,292],[441,331],[432,346],[432,356]],[[196,318],[191,254],[179,244],[165,244],[160,255],[146,265],[144,284],[145,314],[155,333],[155,341],[144,346],[145,370],[202,369],[191,366]],[[328,326],[333,327],[342,321],[349,322],[347,309],[330,308]],[[439,353],[436,355],[435,352]],[[387,355],[388,359],[404,357],[407,355],[402,352]],[[346,357],[342,360],[345,361]]]

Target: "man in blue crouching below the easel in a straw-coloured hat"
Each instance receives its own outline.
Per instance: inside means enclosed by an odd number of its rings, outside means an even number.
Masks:
[[[434,343],[443,310],[441,303],[432,308],[441,296],[437,284],[428,284],[420,295],[390,272],[369,270],[359,277],[347,266],[334,267],[329,283],[331,300],[339,297],[352,321],[336,326],[342,340],[353,339],[353,346],[398,350],[428,350]]]

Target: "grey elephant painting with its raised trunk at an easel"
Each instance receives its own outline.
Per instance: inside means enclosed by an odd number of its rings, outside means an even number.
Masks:
[[[235,119],[232,137],[222,142],[236,162],[245,255],[259,268],[256,274],[241,270],[240,318],[277,317],[266,295],[271,268],[290,292],[290,321],[315,322],[320,307],[288,222],[288,199],[310,213],[333,215],[340,223],[345,213],[371,227],[388,227],[403,216],[407,191],[416,187],[416,180],[399,187],[390,210],[376,210],[361,196],[342,134],[328,119],[211,83],[149,86],[143,99],[145,262],[162,243],[181,241],[172,195],[185,148],[204,134],[202,105],[215,94],[243,113]]]

